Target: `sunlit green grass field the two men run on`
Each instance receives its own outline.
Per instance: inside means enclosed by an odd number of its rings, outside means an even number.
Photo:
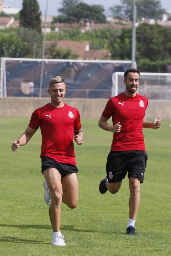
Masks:
[[[144,129],[148,153],[141,203],[136,221],[138,236],[126,235],[128,178],[120,191],[101,195],[112,133],[96,120],[82,120],[84,145],[75,144],[79,204],[62,204],[61,233],[65,247],[52,246],[48,206],[43,200],[41,133],[11,152],[11,144],[24,131],[28,118],[0,118],[0,255],[171,255],[171,121],[160,129]]]

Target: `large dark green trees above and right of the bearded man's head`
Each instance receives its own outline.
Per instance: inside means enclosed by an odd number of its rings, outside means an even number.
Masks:
[[[130,60],[131,46],[132,29],[123,29],[121,35],[111,41],[112,59]],[[166,67],[169,60],[171,60],[170,29],[148,23],[139,25],[136,32],[137,67],[141,67],[142,72],[158,72],[157,65],[160,65],[162,67],[160,70],[166,71],[164,65]]]

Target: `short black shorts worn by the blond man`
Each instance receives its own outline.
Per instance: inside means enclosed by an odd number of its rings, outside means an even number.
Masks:
[[[46,170],[49,167],[53,167],[53,168],[57,169],[58,172],[60,172],[61,177],[64,177],[68,173],[77,173],[78,172],[77,166],[72,165],[70,163],[57,162],[53,158],[46,157],[46,155],[45,155],[44,157],[42,157],[42,174],[43,174],[44,170]]]

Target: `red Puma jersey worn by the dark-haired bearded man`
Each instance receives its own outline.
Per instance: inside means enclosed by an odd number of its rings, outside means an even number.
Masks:
[[[142,126],[147,106],[148,99],[140,94],[128,97],[121,93],[109,99],[102,116],[112,117],[113,125],[120,122],[122,126],[113,134],[111,150],[145,150]]]

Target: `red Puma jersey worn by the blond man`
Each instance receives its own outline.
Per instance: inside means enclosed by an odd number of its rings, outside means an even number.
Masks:
[[[29,127],[41,128],[41,158],[46,155],[55,161],[76,165],[73,136],[74,131],[81,129],[80,114],[76,108],[67,104],[54,108],[48,103],[33,112]]]

